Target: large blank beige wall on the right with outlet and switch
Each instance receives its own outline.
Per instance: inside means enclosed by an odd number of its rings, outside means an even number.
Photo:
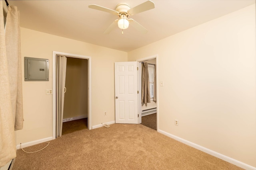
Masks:
[[[158,54],[160,130],[254,167],[255,20],[254,4],[128,53]]]

